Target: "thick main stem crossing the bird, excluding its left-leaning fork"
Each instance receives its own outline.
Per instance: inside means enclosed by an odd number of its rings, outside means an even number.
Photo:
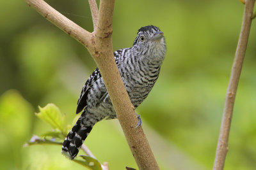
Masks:
[[[112,17],[109,17],[113,15],[113,8],[114,0],[100,1],[98,24],[95,32],[95,46],[100,53],[99,55],[95,53],[93,59],[100,69],[116,115],[139,169],[159,169],[143,129],[141,127],[135,128],[138,124],[138,118],[134,113],[134,106],[129,99],[113,57]]]

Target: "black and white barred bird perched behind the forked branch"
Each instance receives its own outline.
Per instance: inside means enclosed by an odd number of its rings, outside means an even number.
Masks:
[[[137,34],[131,48],[114,52],[116,65],[134,108],[144,101],[156,83],[166,53],[163,32],[158,27],[141,27]],[[69,159],[76,157],[93,125],[102,119],[116,118],[98,68],[86,81],[78,99],[76,113],[82,110],[81,117],[63,142],[62,153]]]

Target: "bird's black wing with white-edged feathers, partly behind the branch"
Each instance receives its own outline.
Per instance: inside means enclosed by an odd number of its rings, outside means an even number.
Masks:
[[[114,52],[116,64],[118,64],[118,57],[121,55],[121,53],[122,53],[122,49],[116,50]],[[83,89],[77,101],[76,113],[80,113],[87,106],[87,101],[86,101],[87,95],[90,92],[90,89],[92,88],[93,83],[97,81],[99,78],[101,78],[101,74],[100,74],[99,68],[97,67],[83,86]]]

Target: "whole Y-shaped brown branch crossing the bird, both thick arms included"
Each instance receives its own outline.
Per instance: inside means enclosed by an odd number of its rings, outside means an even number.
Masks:
[[[100,1],[97,27],[92,33],[74,24],[42,0],[25,1],[61,30],[86,46],[100,69],[116,115],[139,169],[159,169],[142,127],[135,128],[138,118],[134,113],[134,106],[129,99],[113,57],[111,34],[115,1]],[[92,15],[94,15],[93,11]]]

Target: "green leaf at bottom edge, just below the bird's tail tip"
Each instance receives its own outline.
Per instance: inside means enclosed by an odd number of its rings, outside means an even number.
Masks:
[[[89,157],[87,155],[80,155],[80,157],[82,157],[84,161],[74,159],[74,162],[77,162],[78,164],[81,164],[82,166],[87,167],[88,169],[102,170],[99,160]]]

